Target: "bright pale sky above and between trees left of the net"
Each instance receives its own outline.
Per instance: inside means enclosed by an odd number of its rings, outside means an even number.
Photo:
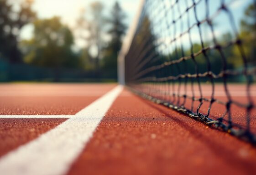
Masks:
[[[88,8],[95,0],[34,0],[33,10],[39,18],[51,18],[60,16],[62,22],[73,28],[82,8]],[[104,14],[108,14],[116,0],[97,0],[104,4]],[[130,26],[138,9],[140,0],[118,0],[125,11],[127,26]],[[24,27],[21,31],[21,39],[29,39],[32,36],[31,25]],[[78,44],[79,45],[79,44]]]

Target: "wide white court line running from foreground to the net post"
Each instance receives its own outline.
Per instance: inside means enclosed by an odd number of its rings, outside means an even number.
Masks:
[[[74,117],[0,159],[2,175],[63,175],[122,91],[117,86]]]

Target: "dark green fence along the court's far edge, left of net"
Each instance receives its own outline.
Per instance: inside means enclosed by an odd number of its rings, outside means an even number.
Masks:
[[[84,70],[52,69],[27,64],[10,64],[0,59],[0,82],[36,81],[36,82],[115,82],[113,77],[104,77],[104,72],[86,72]]]

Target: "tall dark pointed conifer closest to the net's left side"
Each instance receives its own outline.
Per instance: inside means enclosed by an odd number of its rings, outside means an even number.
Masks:
[[[117,56],[121,49],[122,37],[126,31],[125,20],[126,15],[121,9],[118,2],[115,2],[111,11],[111,17],[107,22],[110,24],[108,31],[111,36],[109,45],[104,49],[104,70],[108,72],[110,77],[117,78]]]

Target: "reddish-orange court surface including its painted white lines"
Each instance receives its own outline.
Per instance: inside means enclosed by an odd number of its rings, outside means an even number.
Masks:
[[[230,89],[246,102],[239,85]],[[244,123],[241,109],[232,115]],[[118,84],[0,84],[0,140],[2,175],[256,174],[251,144]]]

